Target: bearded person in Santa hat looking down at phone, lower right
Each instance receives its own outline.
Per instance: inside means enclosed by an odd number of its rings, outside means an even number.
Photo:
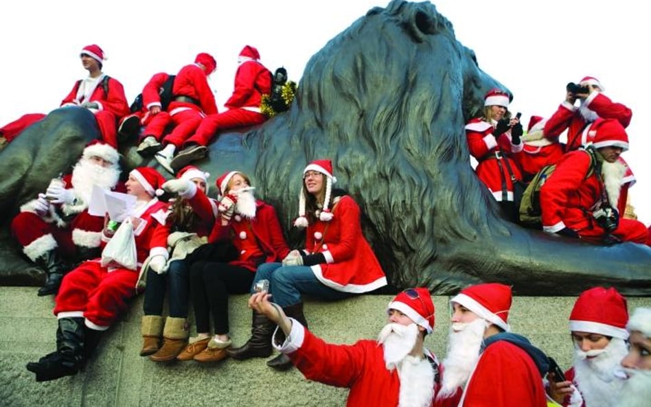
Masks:
[[[569,317],[574,342],[573,367],[565,381],[548,375],[547,394],[562,406],[599,407],[617,404],[621,380],[616,371],[628,347],[628,308],[615,288],[595,287],[581,293]]]

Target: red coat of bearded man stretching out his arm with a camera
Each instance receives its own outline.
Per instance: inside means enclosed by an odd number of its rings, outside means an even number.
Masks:
[[[354,345],[332,345],[317,338],[296,321],[302,337],[287,353],[294,365],[309,380],[330,386],[350,388],[348,407],[396,407],[399,405],[400,375],[396,369],[389,371],[385,366],[384,348],[375,340],[358,340]],[[293,346],[293,345],[290,345]],[[433,353],[427,351],[435,364]],[[436,384],[435,384],[436,387]],[[432,396],[436,388],[432,389]],[[433,399],[432,399],[433,404]]]

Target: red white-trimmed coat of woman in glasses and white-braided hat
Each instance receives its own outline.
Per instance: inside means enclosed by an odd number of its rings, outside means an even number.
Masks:
[[[321,283],[334,290],[360,294],[387,285],[371,246],[364,238],[360,211],[350,196],[341,196],[332,208],[330,222],[308,225],[305,251],[323,253],[325,264],[312,266]]]

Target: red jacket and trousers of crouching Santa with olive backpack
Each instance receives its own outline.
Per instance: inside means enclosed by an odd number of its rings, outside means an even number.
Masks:
[[[604,236],[604,229],[592,215],[602,202],[604,185],[594,170],[586,178],[590,168],[591,158],[584,150],[572,151],[562,157],[556,170],[540,188],[544,231],[556,233],[569,227],[590,240]],[[611,234],[620,240],[641,244],[648,240],[645,226],[631,219],[620,218],[619,226]]]

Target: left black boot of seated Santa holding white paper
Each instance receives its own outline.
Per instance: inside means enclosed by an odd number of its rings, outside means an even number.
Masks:
[[[84,362],[84,318],[59,318],[58,323],[56,352],[27,363],[27,370],[36,373],[36,382],[75,375]]]

